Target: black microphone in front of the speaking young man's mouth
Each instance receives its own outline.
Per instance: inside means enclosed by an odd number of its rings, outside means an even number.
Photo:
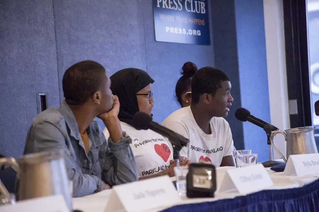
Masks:
[[[235,117],[242,122],[250,122],[252,124],[257,125],[258,127],[265,128],[269,127],[271,131],[279,130],[278,127],[275,127],[274,125],[271,125],[257,117],[254,117],[253,115],[250,115],[249,110],[245,108],[238,108],[235,112]]]

